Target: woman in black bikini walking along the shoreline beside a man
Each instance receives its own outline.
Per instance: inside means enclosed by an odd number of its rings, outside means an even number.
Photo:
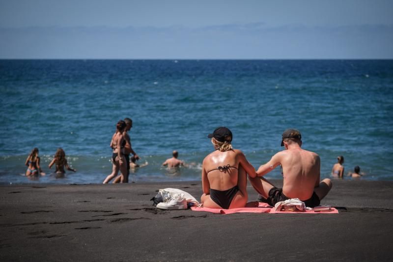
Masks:
[[[112,136],[111,147],[112,147],[112,173],[108,175],[104,180],[104,184],[111,181],[120,170],[120,183],[124,182],[127,175],[127,162],[124,156],[124,146],[126,141],[123,138],[123,132],[126,128],[126,123],[120,120],[116,124],[116,132]]]

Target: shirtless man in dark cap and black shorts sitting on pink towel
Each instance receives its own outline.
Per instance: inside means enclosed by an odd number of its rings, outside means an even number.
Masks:
[[[282,133],[281,146],[286,150],[278,152],[269,162],[260,166],[256,177],[249,176],[254,189],[273,206],[291,198],[300,199],[308,207],[319,205],[332,188],[329,178],[320,182],[319,156],[301,148],[302,135],[296,129],[287,129]],[[279,165],[284,179],[282,189],[262,177]]]

